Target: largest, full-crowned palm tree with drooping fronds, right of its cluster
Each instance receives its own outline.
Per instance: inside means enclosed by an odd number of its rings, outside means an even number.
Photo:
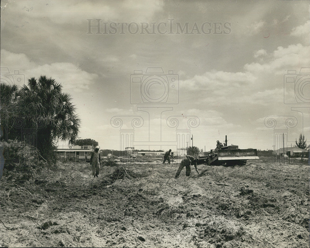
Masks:
[[[53,150],[56,140],[68,140],[73,144],[78,137],[80,119],[68,93],[55,79],[40,76],[28,80],[20,91],[20,100],[29,110],[25,122],[37,130],[37,144],[41,154]]]

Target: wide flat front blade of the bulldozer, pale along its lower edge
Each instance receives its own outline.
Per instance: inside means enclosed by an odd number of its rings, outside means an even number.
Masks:
[[[227,149],[219,150],[219,160],[248,160],[259,159],[256,149]]]

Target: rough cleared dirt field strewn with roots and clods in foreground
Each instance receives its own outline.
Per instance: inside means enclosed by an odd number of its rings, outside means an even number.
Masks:
[[[309,247],[309,165],[59,164],[0,182],[0,245]],[[123,179],[118,179],[123,178]]]

